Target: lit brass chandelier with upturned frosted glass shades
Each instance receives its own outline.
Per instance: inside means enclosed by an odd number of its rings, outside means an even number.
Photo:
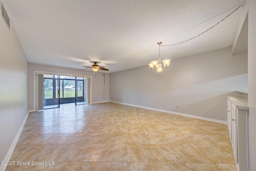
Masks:
[[[168,66],[170,65],[170,61],[169,59],[166,60],[162,60],[163,64],[161,64],[161,58],[160,58],[160,44],[162,44],[162,42],[158,42],[157,43],[159,45],[159,56],[158,56],[158,61],[151,61],[149,65],[149,67],[151,68],[152,72],[163,72],[166,71]],[[164,65],[164,69],[162,68],[162,65]]]

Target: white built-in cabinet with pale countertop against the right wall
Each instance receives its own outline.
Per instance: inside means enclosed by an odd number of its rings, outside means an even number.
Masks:
[[[249,171],[247,101],[247,97],[232,96],[227,101],[228,131],[238,171]]]

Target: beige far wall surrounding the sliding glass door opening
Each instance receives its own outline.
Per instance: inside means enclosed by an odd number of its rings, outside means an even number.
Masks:
[[[109,100],[109,74],[105,74],[105,99],[103,99],[104,78],[102,72],[90,72],[40,64],[28,64],[29,110],[34,110],[34,71],[92,76],[92,103]]]

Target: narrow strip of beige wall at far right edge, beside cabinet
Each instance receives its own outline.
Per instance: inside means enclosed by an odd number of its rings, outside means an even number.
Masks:
[[[256,1],[249,3],[248,15],[248,132],[249,132],[249,167],[256,170]]]

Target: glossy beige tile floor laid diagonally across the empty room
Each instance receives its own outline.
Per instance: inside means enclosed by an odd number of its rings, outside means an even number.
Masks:
[[[7,171],[236,171],[227,125],[111,102],[30,113],[10,161],[30,165]]]

